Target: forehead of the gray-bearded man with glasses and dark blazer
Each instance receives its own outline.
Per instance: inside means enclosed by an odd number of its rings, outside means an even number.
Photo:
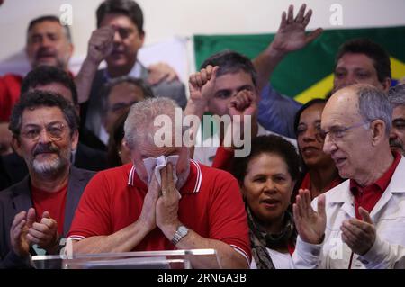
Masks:
[[[57,121],[66,122],[63,112],[58,107],[38,106],[33,109],[25,109],[22,115],[22,126],[42,126]]]

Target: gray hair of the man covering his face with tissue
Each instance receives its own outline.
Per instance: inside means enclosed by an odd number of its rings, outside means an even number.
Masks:
[[[170,124],[175,122],[175,109],[181,109],[175,101],[166,97],[148,98],[130,107],[130,113],[124,124],[125,139],[130,149],[144,141],[150,144],[154,142],[155,133],[160,127],[154,125],[157,116],[166,115],[171,119]],[[184,116],[184,114],[182,114]],[[184,126],[182,127],[182,135]]]

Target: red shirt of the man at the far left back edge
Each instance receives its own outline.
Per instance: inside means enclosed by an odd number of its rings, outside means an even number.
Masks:
[[[9,121],[14,104],[20,99],[23,76],[7,74],[0,77],[0,121]]]

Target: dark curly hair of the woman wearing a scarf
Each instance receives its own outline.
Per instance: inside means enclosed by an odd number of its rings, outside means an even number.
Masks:
[[[232,165],[232,175],[234,175],[239,184],[247,175],[247,166],[249,162],[261,154],[275,154],[284,159],[288,167],[288,173],[297,181],[300,176],[300,158],[297,150],[292,143],[279,136],[268,135],[260,136],[252,140],[252,149],[247,157],[235,157]]]

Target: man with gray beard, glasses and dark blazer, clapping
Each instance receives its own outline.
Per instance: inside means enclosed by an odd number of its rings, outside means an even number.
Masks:
[[[0,268],[30,266],[56,254],[85,185],[94,173],[70,164],[78,118],[60,94],[33,91],[14,106],[9,129],[29,175],[0,193]]]

